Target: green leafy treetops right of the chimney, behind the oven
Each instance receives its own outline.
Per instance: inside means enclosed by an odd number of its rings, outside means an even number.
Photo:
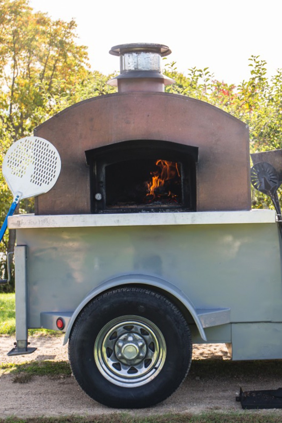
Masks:
[[[216,80],[208,68],[194,67],[184,77],[175,63],[168,63],[165,73],[175,79],[175,85],[168,85],[166,91],[203,100],[245,122],[252,152],[282,148],[282,70],[269,80],[265,60],[252,56],[249,62],[249,80],[238,87]]]

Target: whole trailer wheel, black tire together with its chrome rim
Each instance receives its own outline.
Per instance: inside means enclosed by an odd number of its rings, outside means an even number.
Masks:
[[[192,341],[172,302],[126,287],[85,306],[71,330],[68,355],[77,382],[94,400],[116,408],[150,407],[181,385]]]

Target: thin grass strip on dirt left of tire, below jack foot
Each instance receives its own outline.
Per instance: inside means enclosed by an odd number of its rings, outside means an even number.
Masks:
[[[25,363],[0,364],[1,373],[30,374],[30,376],[71,376],[71,367],[67,361],[29,361]],[[23,377],[23,376],[22,376]]]

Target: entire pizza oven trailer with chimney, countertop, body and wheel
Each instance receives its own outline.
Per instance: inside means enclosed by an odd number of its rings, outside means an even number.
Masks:
[[[9,354],[34,351],[30,328],[65,332],[82,389],[139,408],[179,387],[193,343],[226,343],[232,360],[282,358],[281,235],[274,210],[251,209],[248,127],[164,93],[167,46],[110,53],[120,57],[118,93],[34,131],[62,170],[35,214],[8,218],[17,240]]]

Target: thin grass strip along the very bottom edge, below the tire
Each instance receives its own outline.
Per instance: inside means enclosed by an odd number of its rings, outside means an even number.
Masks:
[[[128,413],[112,413],[101,416],[64,416],[64,417],[40,417],[40,418],[15,418],[6,420],[0,418],[0,423],[281,423],[281,415],[260,415],[244,413],[205,413],[198,415],[169,414],[153,416],[132,416]]]

